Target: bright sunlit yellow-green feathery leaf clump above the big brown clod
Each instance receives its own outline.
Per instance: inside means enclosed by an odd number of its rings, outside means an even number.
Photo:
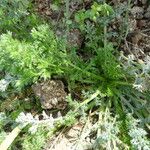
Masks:
[[[23,87],[38,78],[61,75],[66,65],[63,42],[55,37],[48,25],[32,29],[30,41],[19,41],[12,33],[1,35],[0,70],[16,77],[16,86]]]

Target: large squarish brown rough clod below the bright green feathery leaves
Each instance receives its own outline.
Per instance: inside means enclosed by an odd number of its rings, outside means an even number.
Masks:
[[[67,93],[61,80],[48,80],[32,86],[35,96],[40,99],[43,109],[64,109]]]

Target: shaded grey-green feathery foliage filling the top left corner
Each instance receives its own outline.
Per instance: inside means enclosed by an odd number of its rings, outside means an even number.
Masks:
[[[28,32],[40,24],[40,19],[32,13],[30,0],[3,0],[0,2],[0,34],[11,31],[14,37],[29,38]]]

